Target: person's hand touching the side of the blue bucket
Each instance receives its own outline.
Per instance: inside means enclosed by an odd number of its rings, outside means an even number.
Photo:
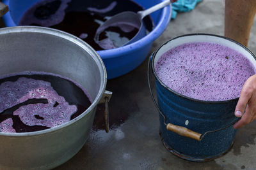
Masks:
[[[256,119],[256,74],[250,76],[243,85],[236,105],[235,116],[241,120],[234,124],[234,129],[250,124]]]

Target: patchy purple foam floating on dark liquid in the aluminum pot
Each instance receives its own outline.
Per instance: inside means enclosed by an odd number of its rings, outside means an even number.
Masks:
[[[51,87],[51,83],[44,80],[20,77],[17,81],[1,83],[0,98],[4,101],[0,103],[0,113],[28,99],[47,99],[47,104],[28,104],[13,112],[13,115],[19,115],[20,120],[30,126],[55,127],[68,122],[77,111],[76,105],[68,104],[65,98],[59,96]],[[0,131],[13,132],[12,124],[12,118],[4,120],[0,123]]]

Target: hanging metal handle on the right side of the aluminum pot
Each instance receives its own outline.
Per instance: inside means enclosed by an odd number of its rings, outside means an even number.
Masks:
[[[112,96],[112,92],[105,90],[103,96],[101,97],[99,103],[105,103],[105,110],[104,110],[104,119],[105,119],[105,131],[109,132],[109,111],[108,111],[108,103]]]

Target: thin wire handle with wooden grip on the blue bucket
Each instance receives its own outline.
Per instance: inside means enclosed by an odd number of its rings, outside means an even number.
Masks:
[[[150,55],[149,59],[148,59],[148,71],[147,71],[147,78],[148,78],[148,87],[149,87],[149,91],[150,91],[150,94],[151,94],[151,97],[152,97],[152,100],[157,108],[157,110],[159,111],[159,113],[162,115],[162,117],[164,118],[164,125],[166,125],[166,129],[168,131],[172,131],[172,132],[175,132],[176,134],[179,134],[180,136],[184,136],[184,137],[187,137],[187,138],[191,138],[191,139],[195,139],[197,141],[201,141],[206,134],[209,134],[209,133],[212,133],[212,132],[217,132],[217,131],[221,131],[223,129],[226,129],[228,127],[230,127],[231,125],[234,125],[240,118],[236,118],[232,123],[228,124],[227,126],[225,127],[222,127],[220,129],[216,129],[214,131],[207,131],[205,132],[204,134],[200,134],[198,132],[195,132],[195,131],[191,131],[190,129],[186,128],[186,127],[182,127],[182,126],[178,126],[178,125],[173,125],[173,124],[166,124],[166,118],[164,116],[164,114],[162,113],[162,111],[160,110],[159,106],[157,105],[156,103],[156,99],[154,97],[154,94],[152,92],[152,87],[151,87],[151,84],[150,84],[150,78],[149,78],[149,69],[150,69],[150,64],[152,62],[152,56],[154,55],[154,52],[152,53],[152,55]]]

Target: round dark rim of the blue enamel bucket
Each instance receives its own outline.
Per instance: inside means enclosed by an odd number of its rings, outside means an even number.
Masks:
[[[155,70],[155,67],[154,67],[154,60],[156,58],[156,53],[164,46],[166,45],[167,43],[169,43],[170,41],[173,41],[175,39],[178,39],[178,38],[182,38],[182,37],[186,37],[186,36],[213,36],[213,37],[217,37],[217,38],[222,38],[222,39],[225,39],[227,41],[231,41],[232,43],[236,43],[236,45],[239,45],[241,46],[242,48],[244,48],[244,50],[246,50],[248,53],[250,53],[252,55],[252,57],[256,60],[256,57],[255,55],[253,54],[253,52],[251,50],[249,50],[249,48],[247,48],[246,46],[242,45],[241,43],[238,43],[237,41],[235,41],[234,39],[230,39],[230,38],[227,38],[225,36],[220,36],[220,35],[216,35],[216,34],[207,34],[207,33],[193,33],[193,34],[183,34],[181,36],[177,36],[175,38],[172,38],[168,41],[166,41],[165,43],[163,43],[163,45],[159,46],[159,48],[157,48],[156,52],[153,52],[152,53],[152,64],[151,64],[151,67],[152,67],[152,71],[153,71],[153,74],[154,74],[154,77],[156,78],[156,80],[164,87],[164,89],[172,92],[173,94],[175,94],[176,96],[179,96],[179,97],[182,97],[184,99],[187,99],[189,101],[195,101],[196,103],[207,103],[207,104],[225,104],[225,103],[232,103],[232,102],[237,102],[239,97],[236,97],[234,99],[229,99],[229,100],[226,100],[226,101],[204,101],[204,100],[200,100],[200,99],[194,99],[192,97],[188,97],[188,96],[184,96],[183,94],[180,94],[179,92],[175,92],[175,90],[172,90],[170,89],[169,87],[167,87],[166,85],[164,85],[163,81],[160,80],[160,78],[157,76],[156,74],[156,70]]]

